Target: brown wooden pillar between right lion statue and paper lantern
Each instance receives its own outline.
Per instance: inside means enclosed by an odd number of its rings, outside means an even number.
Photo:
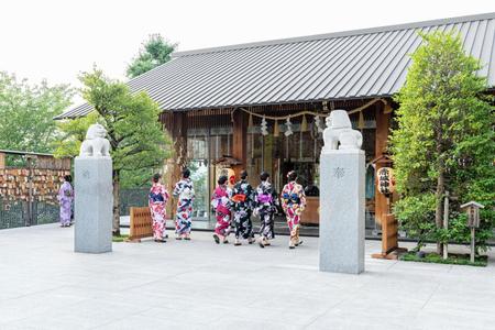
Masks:
[[[376,103],[376,133],[375,133],[375,158],[382,156],[386,152],[388,132],[391,128],[391,113],[384,113],[384,105]],[[381,162],[376,163],[375,174],[385,165]],[[376,178],[376,175],[375,175]],[[385,223],[388,213],[387,198],[380,194],[378,185],[375,184],[375,222]]]

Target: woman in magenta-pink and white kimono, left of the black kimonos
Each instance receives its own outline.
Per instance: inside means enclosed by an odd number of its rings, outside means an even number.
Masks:
[[[227,187],[227,176],[222,175],[218,178],[218,186],[213,190],[213,196],[211,197],[211,206],[215,209],[217,224],[215,226],[213,239],[217,244],[220,240],[227,244],[229,241],[227,237],[230,233],[230,221],[232,218],[232,190]]]

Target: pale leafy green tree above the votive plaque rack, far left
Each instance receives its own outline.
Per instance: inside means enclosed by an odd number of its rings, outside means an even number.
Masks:
[[[0,148],[52,152],[53,118],[70,105],[72,96],[66,85],[29,85],[0,72]]]

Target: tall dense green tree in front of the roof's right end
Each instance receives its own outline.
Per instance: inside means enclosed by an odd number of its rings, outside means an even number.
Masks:
[[[487,206],[479,244],[494,226],[494,116],[486,77],[479,61],[465,55],[453,33],[421,34],[407,81],[396,97],[398,128],[392,132],[397,190],[395,212],[417,238],[436,239],[438,252],[449,240],[466,243],[465,217],[459,206],[477,200]],[[442,229],[446,191],[451,195],[452,226]],[[431,226],[432,224],[432,226]],[[420,249],[420,245],[418,245]]]

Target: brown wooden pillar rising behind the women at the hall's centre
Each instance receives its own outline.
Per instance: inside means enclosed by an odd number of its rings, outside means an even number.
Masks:
[[[238,110],[233,113],[232,135],[232,157],[242,162],[233,166],[235,178],[239,179],[239,174],[246,168],[248,161],[248,113],[244,111]]]

